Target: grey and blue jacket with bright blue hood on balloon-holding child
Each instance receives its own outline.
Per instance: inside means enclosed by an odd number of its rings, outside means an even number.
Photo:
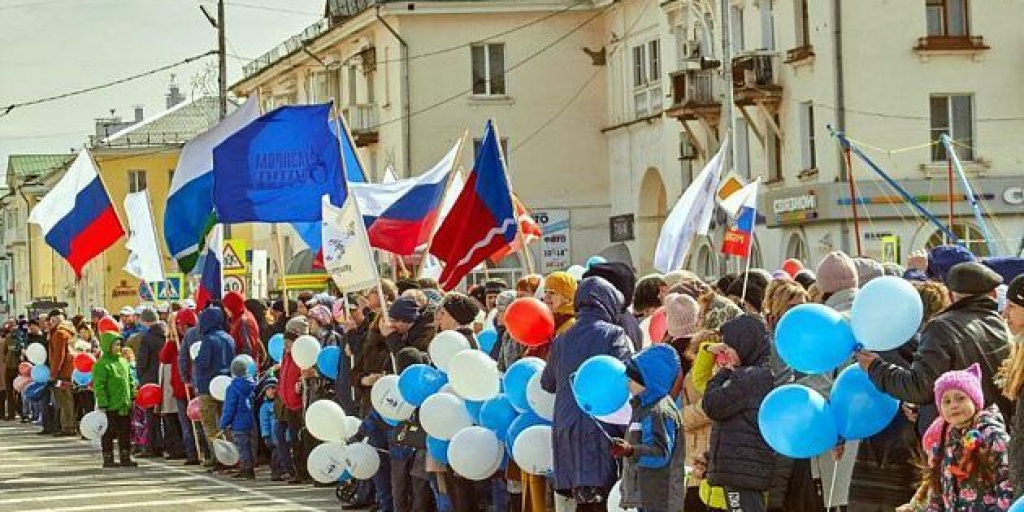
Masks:
[[[679,357],[669,345],[653,345],[634,360],[644,390],[632,400],[626,441],[633,455],[623,461],[622,506],[683,512],[686,443],[682,418],[669,395],[679,373]]]

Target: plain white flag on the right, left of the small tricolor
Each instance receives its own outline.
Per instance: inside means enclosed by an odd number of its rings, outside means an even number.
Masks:
[[[715,210],[715,190],[721,178],[722,166],[729,153],[729,139],[722,142],[715,157],[708,162],[665,219],[654,252],[654,268],[663,272],[678,270],[696,234],[708,234],[708,225]]]

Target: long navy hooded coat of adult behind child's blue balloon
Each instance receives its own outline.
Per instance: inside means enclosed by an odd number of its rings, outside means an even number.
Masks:
[[[594,355],[611,355],[623,360],[629,357],[629,338],[614,324],[622,303],[623,295],[604,279],[584,280],[577,289],[575,325],[551,344],[541,385],[549,393],[555,393],[556,489],[609,488],[617,478],[605,433],[580,409],[572,395],[572,375]]]

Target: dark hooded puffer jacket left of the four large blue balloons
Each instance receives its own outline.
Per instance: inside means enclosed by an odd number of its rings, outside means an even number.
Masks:
[[[754,314],[722,325],[722,341],[739,356],[739,367],[722,369],[708,383],[700,401],[714,422],[708,480],[713,485],[767,490],[775,453],[758,428],[758,410],[772,389],[768,369],[768,328]]]

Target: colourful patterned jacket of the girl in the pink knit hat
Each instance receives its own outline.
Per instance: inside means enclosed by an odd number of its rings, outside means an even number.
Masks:
[[[928,512],[1008,510],[1014,499],[1007,456],[1009,441],[1010,435],[996,407],[980,411],[970,429],[950,428],[944,442],[932,452],[933,457],[941,457],[939,479],[942,488],[930,490]],[[982,482],[977,473],[963,474],[957,461],[971,450],[987,453],[994,472],[993,481]]]

